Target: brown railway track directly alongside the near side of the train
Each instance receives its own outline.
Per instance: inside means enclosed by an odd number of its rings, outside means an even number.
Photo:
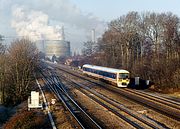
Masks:
[[[75,71],[70,72],[68,69],[56,67],[57,69],[64,71],[70,75],[73,75],[77,78],[89,81],[91,83],[100,85],[108,90],[111,90],[115,93],[118,93],[128,99],[131,99],[135,102],[138,102],[144,106],[150,107],[153,110],[156,110],[160,112],[161,114],[164,114],[170,118],[173,118],[177,121],[180,121],[180,110],[179,110],[179,103],[175,102],[173,100],[163,98],[160,96],[154,96],[150,94],[146,94],[143,92],[134,91],[131,89],[121,89],[115,86],[111,86],[108,84],[105,84],[103,82],[99,82],[98,80],[94,80],[92,78],[84,77],[83,75],[77,74]]]

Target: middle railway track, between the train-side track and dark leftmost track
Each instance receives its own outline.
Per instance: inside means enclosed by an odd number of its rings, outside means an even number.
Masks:
[[[137,112],[134,112],[121,103],[109,98],[108,96],[104,96],[101,93],[98,93],[84,85],[81,85],[71,79],[67,79],[60,76],[61,79],[68,82],[71,86],[75,87],[76,89],[80,90],[82,93],[108,109],[109,111],[113,112],[115,115],[119,116],[121,119],[125,120],[129,124],[131,124],[135,128],[154,128],[154,129],[164,129],[166,127],[158,124],[156,121],[149,119]],[[125,112],[125,114],[122,113]],[[120,113],[121,112],[121,113]],[[123,114],[123,115],[122,115]]]

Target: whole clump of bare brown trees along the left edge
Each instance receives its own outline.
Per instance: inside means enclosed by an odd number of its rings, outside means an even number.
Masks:
[[[37,63],[36,46],[28,39],[17,39],[10,46],[0,37],[0,103],[15,105],[27,99]]]

